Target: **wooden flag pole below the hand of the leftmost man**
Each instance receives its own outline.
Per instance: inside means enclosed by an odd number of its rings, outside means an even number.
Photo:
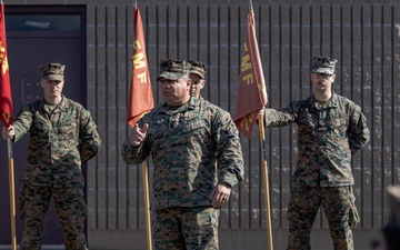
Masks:
[[[16,186],[14,186],[14,171],[12,158],[12,141],[8,139],[8,156],[9,156],[9,183],[10,183],[10,214],[11,214],[11,249],[17,250],[17,236],[16,236]]]

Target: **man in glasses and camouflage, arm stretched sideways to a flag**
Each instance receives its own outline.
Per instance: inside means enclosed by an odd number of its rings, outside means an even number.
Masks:
[[[353,249],[351,228],[359,221],[351,156],[369,141],[361,108],[334,93],[337,60],[314,57],[313,96],[283,109],[266,109],[266,127],[298,124],[298,162],[288,206],[288,249],[310,249],[310,232],[322,203],[334,249]]]

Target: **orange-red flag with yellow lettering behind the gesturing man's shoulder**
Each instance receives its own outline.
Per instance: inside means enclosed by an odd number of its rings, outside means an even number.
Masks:
[[[127,122],[131,127],[154,107],[146,54],[143,22],[138,7],[134,7],[133,36],[132,76],[127,110]]]

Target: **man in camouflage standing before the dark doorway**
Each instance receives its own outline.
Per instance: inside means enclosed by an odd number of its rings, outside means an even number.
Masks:
[[[63,229],[66,250],[87,249],[87,204],[81,164],[100,150],[101,140],[90,112],[61,94],[64,66],[41,67],[44,100],[26,104],[2,136],[17,142],[29,132],[28,166],[20,197],[23,221],[21,250],[40,250],[50,198]]]

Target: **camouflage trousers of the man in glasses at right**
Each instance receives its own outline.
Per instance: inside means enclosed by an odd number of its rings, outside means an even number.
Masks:
[[[359,221],[352,187],[301,187],[292,189],[288,206],[288,250],[309,250],[310,233],[322,203],[333,249],[353,250],[351,228]]]

